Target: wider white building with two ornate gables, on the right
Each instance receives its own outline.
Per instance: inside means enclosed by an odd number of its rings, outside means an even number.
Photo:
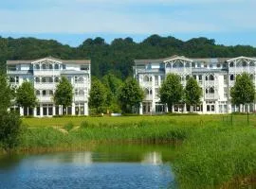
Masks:
[[[145,98],[140,106],[140,114],[168,112],[167,106],[160,102],[159,88],[167,74],[180,76],[185,86],[189,77],[194,77],[203,90],[201,104],[192,107],[198,113],[238,112],[240,107],[230,103],[230,88],[235,77],[243,72],[249,74],[256,84],[256,58],[214,58],[190,59],[183,56],[173,56],[159,60],[135,60],[134,77],[145,92]],[[173,112],[189,112],[189,106],[174,105]],[[255,112],[254,104],[245,106],[244,111]]]

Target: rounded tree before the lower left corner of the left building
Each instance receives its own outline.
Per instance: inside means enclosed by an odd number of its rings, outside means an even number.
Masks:
[[[18,106],[27,109],[34,108],[37,104],[34,87],[31,82],[25,81],[16,91],[16,103]]]

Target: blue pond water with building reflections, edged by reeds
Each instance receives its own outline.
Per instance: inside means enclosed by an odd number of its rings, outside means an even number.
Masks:
[[[0,188],[174,188],[172,146],[101,145],[91,151],[0,157]]]

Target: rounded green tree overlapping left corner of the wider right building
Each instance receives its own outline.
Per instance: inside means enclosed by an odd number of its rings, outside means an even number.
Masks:
[[[119,102],[123,112],[132,112],[133,107],[138,108],[144,97],[143,90],[139,87],[137,80],[128,77],[119,90]]]

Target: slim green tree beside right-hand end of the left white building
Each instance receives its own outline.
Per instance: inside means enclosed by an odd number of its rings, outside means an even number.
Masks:
[[[106,89],[101,81],[97,78],[93,79],[89,97],[89,107],[95,108],[96,112],[102,112],[102,107],[106,102]]]

